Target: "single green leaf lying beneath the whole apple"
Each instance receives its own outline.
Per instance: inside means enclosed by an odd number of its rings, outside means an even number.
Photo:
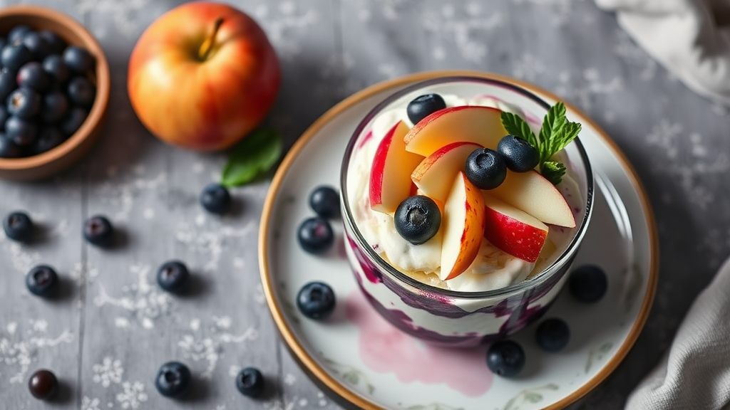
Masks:
[[[223,166],[220,183],[235,187],[253,181],[258,174],[269,171],[282,151],[279,133],[272,128],[259,128],[231,150]]]

